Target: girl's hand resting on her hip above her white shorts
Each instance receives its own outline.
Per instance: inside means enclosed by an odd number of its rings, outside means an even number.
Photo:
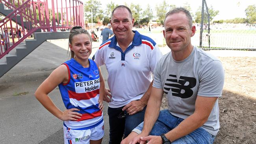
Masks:
[[[74,111],[80,111],[80,110],[76,109],[76,108],[66,109],[65,111],[63,111],[60,119],[63,121],[65,121],[65,120],[76,121],[76,120],[80,119],[81,118],[80,116],[82,116],[82,114],[74,112]]]

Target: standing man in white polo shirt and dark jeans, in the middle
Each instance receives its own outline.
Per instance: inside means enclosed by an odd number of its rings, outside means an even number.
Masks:
[[[152,72],[161,52],[149,37],[132,31],[134,18],[126,6],[112,11],[114,37],[102,43],[95,62],[106,65],[108,85],[104,100],[109,102],[109,144],[120,144],[144,120],[152,88]],[[108,97],[109,96],[109,97]]]

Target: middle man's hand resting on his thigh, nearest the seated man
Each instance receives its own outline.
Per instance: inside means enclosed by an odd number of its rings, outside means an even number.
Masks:
[[[142,111],[144,107],[145,105],[141,100],[134,100],[125,105],[125,107],[122,108],[122,111],[126,110],[129,115],[132,115]]]

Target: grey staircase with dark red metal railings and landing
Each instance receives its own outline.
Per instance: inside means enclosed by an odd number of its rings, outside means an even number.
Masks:
[[[0,20],[0,77],[47,39],[68,38],[70,28],[84,27],[79,0],[0,0],[0,13],[6,16]]]

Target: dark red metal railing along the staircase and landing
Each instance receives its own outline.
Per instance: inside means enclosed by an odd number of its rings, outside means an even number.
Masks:
[[[11,33],[9,42],[0,44],[0,59],[38,29],[69,30],[75,25],[84,28],[83,2],[80,0],[65,0],[65,2],[64,0],[63,2],[62,0],[61,2],[60,0],[18,0],[18,6],[15,6],[15,0],[1,0],[1,2],[14,11],[0,21],[0,32],[3,34],[8,29],[8,35]],[[5,50],[6,44],[7,50]]]

